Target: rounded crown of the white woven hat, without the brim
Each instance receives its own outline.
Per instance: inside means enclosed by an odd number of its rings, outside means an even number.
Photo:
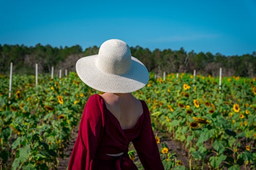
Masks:
[[[109,74],[123,75],[131,69],[131,60],[129,46],[119,39],[110,39],[101,44],[96,66]]]

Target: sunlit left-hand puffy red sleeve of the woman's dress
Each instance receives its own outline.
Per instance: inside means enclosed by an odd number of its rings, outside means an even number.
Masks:
[[[92,95],[82,113],[68,169],[90,170],[104,127],[103,100]]]

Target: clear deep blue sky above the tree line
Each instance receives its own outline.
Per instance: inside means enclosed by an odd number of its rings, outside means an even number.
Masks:
[[[256,1],[2,1],[0,44],[100,46],[252,54]]]

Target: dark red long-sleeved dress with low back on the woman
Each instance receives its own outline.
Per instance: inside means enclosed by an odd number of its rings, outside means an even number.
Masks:
[[[164,169],[151,127],[150,112],[146,103],[141,103],[143,114],[137,124],[122,130],[103,98],[92,95],[84,107],[68,169],[137,169],[127,155],[131,141],[144,169]],[[118,157],[106,155],[121,152],[124,154]]]

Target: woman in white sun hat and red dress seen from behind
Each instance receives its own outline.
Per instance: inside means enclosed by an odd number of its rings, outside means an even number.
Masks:
[[[105,41],[98,55],[76,63],[79,78],[105,92],[87,101],[69,169],[137,169],[127,152],[132,141],[144,169],[163,169],[144,101],[131,92],[149,79],[146,67],[118,39]]]

